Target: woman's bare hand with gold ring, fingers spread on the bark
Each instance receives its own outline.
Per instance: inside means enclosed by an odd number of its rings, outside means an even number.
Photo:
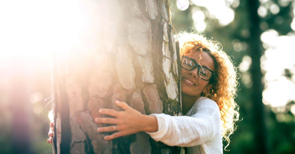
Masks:
[[[96,123],[114,124],[107,127],[98,127],[98,132],[113,132],[112,135],[106,135],[105,140],[112,140],[124,135],[134,134],[140,131],[156,132],[158,131],[157,118],[151,115],[143,115],[125,102],[115,101],[116,105],[124,111],[113,109],[99,109],[100,114],[110,115],[111,117],[96,117]]]

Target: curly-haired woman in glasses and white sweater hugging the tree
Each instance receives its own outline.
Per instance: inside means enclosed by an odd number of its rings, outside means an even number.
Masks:
[[[236,69],[218,42],[199,34],[183,32],[179,35],[182,44],[181,98],[185,116],[142,115],[127,103],[116,101],[123,111],[100,109],[101,114],[114,118],[95,118],[96,123],[113,124],[97,129],[98,132],[116,131],[105,136],[105,140],[145,131],[155,141],[189,147],[187,153],[222,153],[222,138],[229,145],[229,135],[235,130],[235,121],[239,117],[234,101]]]

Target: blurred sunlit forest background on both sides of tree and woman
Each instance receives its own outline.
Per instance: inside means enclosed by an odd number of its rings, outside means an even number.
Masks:
[[[237,67],[240,121],[224,153],[295,153],[294,8],[294,0],[171,0],[175,32],[219,41]],[[0,2],[0,153],[52,153],[51,52],[79,43],[85,12],[78,0]]]

